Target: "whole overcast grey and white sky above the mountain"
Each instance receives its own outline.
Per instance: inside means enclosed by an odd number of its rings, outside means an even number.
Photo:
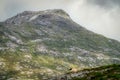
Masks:
[[[0,21],[25,10],[63,9],[78,24],[120,41],[120,0],[0,0]]]

